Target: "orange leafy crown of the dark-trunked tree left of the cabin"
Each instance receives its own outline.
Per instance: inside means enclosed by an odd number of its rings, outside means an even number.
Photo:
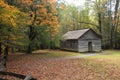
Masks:
[[[34,24],[35,26],[48,26],[47,31],[49,31],[49,28],[53,29],[54,32],[57,31],[58,17],[55,2],[53,0],[20,0],[19,2],[27,4],[27,7],[29,8],[34,8],[34,10],[29,10],[29,15],[31,15],[31,19],[29,21],[30,24]],[[35,17],[36,19],[34,20]]]

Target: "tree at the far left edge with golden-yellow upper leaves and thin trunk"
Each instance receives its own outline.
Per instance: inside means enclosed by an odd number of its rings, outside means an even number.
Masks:
[[[1,46],[3,45],[5,47],[3,58],[5,60],[5,66],[10,44],[15,41],[14,35],[16,34],[14,32],[20,26],[19,22],[21,21],[22,23],[22,18],[20,17],[25,17],[24,13],[14,6],[8,5],[4,0],[0,1],[0,43]]]

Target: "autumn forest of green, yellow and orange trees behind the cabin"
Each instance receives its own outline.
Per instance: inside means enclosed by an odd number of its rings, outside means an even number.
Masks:
[[[65,0],[0,0],[0,55],[57,49],[61,36],[92,28],[103,49],[120,49],[120,0],[85,0],[84,7]]]

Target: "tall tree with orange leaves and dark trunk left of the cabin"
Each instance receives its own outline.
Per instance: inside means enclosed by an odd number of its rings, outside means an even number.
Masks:
[[[21,9],[30,15],[28,53],[32,53],[34,40],[37,38],[37,27],[47,26],[50,36],[57,31],[57,10],[53,0],[20,0]],[[39,35],[39,34],[38,34]]]

